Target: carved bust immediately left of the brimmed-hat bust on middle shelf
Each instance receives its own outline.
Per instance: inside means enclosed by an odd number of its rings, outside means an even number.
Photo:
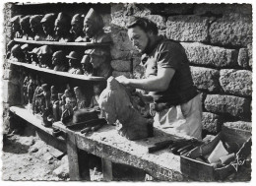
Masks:
[[[58,50],[52,55],[52,65],[54,71],[67,72],[68,64],[65,53],[62,50]]]

